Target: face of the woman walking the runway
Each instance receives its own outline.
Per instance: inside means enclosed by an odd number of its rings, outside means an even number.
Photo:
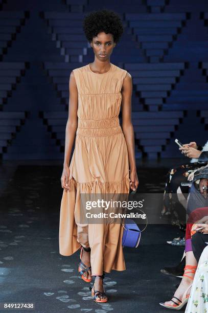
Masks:
[[[106,61],[107,59],[109,59],[113,48],[115,47],[113,35],[101,32],[93,38],[93,41],[90,42],[90,46],[93,48],[95,56],[99,60]]]

